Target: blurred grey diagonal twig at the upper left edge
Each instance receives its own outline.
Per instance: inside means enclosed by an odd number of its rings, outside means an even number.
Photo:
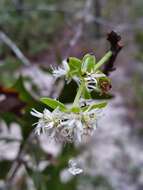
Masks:
[[[22,51],[16,44],[2,31],[0,31],[0,40],[5,43],[17,56],[17,58],[26,66],[30,65],[30,61],[23,55]]]

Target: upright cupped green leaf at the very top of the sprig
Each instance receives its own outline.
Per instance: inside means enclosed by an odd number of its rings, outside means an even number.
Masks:
[[[82,73],[94,71],[96,58],[94,55],[86,54],[82,61]]]

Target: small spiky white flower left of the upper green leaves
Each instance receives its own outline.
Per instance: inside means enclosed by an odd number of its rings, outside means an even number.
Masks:
[[[58,67],[58,69],[53,70],[53,75],[55,78],[60,78],[66,76],[69,72],[70,68],[66,60],[63,60],[62,67]]]

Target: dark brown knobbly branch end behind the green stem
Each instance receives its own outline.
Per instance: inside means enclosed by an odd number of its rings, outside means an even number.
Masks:
[[[121,36],[118,35],[114,31],[111,31],[108,34],[107,40],[110,42],[110,50],[112,51],[112,56],[109,59],[109,61],[107,62],[107,64],[105,65],[103,72],[106,75],[109,75],[110,72],[115,70],[114,63],[115,63],[118,53],[120,52],[120,50],[123,47],[123,44],[121,43]]]

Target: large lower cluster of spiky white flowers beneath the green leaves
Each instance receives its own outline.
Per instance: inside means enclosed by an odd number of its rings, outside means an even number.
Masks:
[[[96,129],[95,109],[81,113],[65,113],[59,109],[53,112],[44,109],[43,113],[40,113],[33,109],[31,114],[39,118],[35,123],[37,135],[46,133],[49,138],[60,142],[81,142],[84,136],[91,136]]]

